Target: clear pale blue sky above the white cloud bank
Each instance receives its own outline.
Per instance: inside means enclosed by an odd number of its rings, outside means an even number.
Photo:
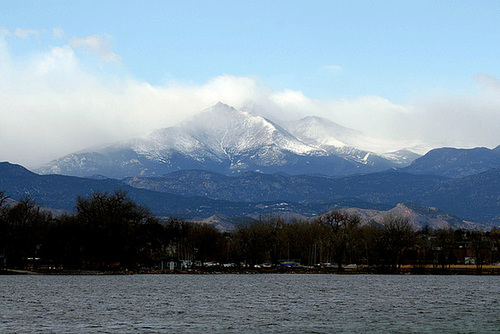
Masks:
[[[110,35],[124,69],[151,84],[231,74],[311,97],[402,101],[500,76],[498,1],[5,2],[9,29]],[[57,45],[44,37],[33,48]]]

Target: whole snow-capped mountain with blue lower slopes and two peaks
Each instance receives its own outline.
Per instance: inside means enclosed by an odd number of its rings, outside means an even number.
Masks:
[[[363,135],[328,120],[306,118],[288,129],[218,103],[177,126],[69,154],[38,172],[116,178],[185,169],[224,174],[258,171],[347,175],[398,165],[393,159],[351,146]]]

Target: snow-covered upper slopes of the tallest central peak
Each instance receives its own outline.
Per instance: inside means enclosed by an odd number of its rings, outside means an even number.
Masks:
[[[271,121],[220,102],[176,127],[157,130],[133,145],[139,154],[167,150],[201,157],[208,153],[220,159],[262,147],[278,147],[299,155],[318,151]]]

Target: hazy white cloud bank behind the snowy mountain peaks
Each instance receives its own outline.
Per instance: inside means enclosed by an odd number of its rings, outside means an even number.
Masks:
[[[174,125],[218,101],[277,121],[327,117],[385,139],[387,149],[500,144],[500,81],[485,73],[474,78],[483,91],[470,96],[424,97],[405,105],[379,96],[319,101],[296,90],[276,91],[258,77],[153,86],[126,72],[107,35],[68,38],[55,28],[52,37],[62,44],[29,58],[12,55],[11,39],[43,34],[0,32],[0,160],[34,166]]]

